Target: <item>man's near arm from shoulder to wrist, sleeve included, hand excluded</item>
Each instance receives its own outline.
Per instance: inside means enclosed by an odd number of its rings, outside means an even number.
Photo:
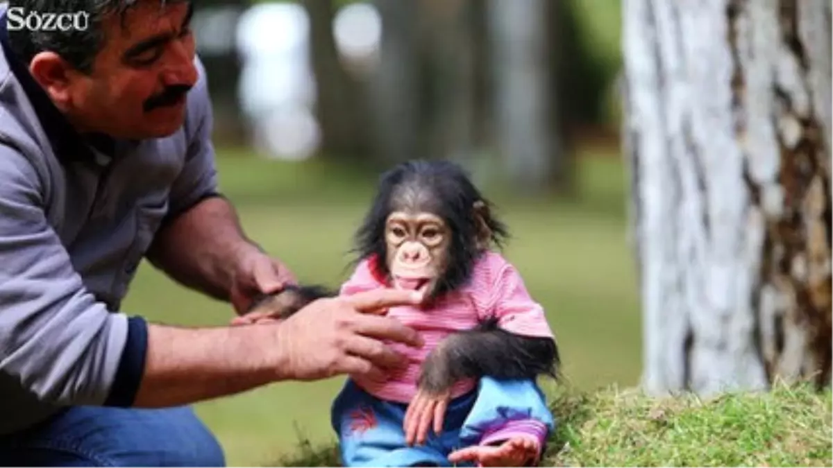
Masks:
[[[164,406],[279,380],[276,328],[186,330],[112,313],[47,222],[39,177],[0,146],[0,372],[57,405]]]

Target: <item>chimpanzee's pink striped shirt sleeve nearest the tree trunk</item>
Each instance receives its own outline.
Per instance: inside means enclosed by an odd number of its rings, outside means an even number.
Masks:
[[[526,291],[515,266],[502,262],[491,291],[492,306],[488,310],[502,329],[521,336],[553,337],[544,308]]]

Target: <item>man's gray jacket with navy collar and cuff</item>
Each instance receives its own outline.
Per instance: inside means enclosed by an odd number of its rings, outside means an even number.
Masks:
[[[132,405],[147,325],[120,310],[122,298],[157,230],[217,196],[198,60],[179,131],[93,147],[12,57],[6,24],[0,17],[0,434],[66,406]]]

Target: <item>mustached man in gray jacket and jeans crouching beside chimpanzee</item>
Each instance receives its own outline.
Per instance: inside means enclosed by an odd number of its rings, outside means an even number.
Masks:
[[[372,313],[420,300],[407,291],[257,326],[120,311],[145,257],[238,312],[292,281],[217,192],[191,12],[176,0],[0,7],[2,466],[223,466],[186,405],[402,365],[384,340],[421,346]]]

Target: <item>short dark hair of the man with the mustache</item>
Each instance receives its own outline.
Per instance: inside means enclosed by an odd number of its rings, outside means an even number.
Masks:
[[[32,62],[32,57],[43,51],[52,51],[69,62],[79,72],[92,72],[92,63],[104,47],[106,37],[102,31],[102,20],[111,13],[124,17],[131,7],[147,0],[9,0],[8,7],[18,7],[24,12],[89,13],[88,26],[82,31],[31,31],[27,28],[8,31],[9,45],[23,62]],[[156,0],[160,5],[177,0]]]

